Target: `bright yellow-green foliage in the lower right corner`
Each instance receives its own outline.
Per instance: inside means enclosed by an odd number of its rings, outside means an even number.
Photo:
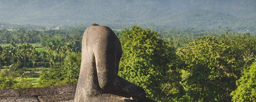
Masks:
[[[236,81],[238,86],[231,93],[233,102],[256,102],[256,62]]]

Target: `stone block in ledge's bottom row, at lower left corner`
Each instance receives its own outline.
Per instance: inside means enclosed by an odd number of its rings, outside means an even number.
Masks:
[[[0,98],[0,102],[39,102],[36,97],[3,97]]]

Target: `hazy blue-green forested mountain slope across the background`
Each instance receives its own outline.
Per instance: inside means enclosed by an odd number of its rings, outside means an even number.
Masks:
[[[255,31],[255,0],[0,0],[0,22]]]

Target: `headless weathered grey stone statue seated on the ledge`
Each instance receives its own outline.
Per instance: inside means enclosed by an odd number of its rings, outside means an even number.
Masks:
[[[85,30],[75,102],[151,100],[142,87],[117,75],[121,55],[121,43],[109,27],[92,24]]]

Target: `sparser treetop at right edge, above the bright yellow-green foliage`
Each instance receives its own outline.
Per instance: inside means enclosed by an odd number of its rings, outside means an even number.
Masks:
[[[226,37],[221,37],[220,42],[224,43],[228,48],[227,56],[232,57],[233,67],[239,68],[240,73],[243,70],[248,70],[252,62],[255,61],[256,55],[256,36],[252,36],[249,33],[240,34],[227,32]],[[241,68],[241,69],[240,69]],[[241,77],[241,74],[237,74],[237,77]]]

